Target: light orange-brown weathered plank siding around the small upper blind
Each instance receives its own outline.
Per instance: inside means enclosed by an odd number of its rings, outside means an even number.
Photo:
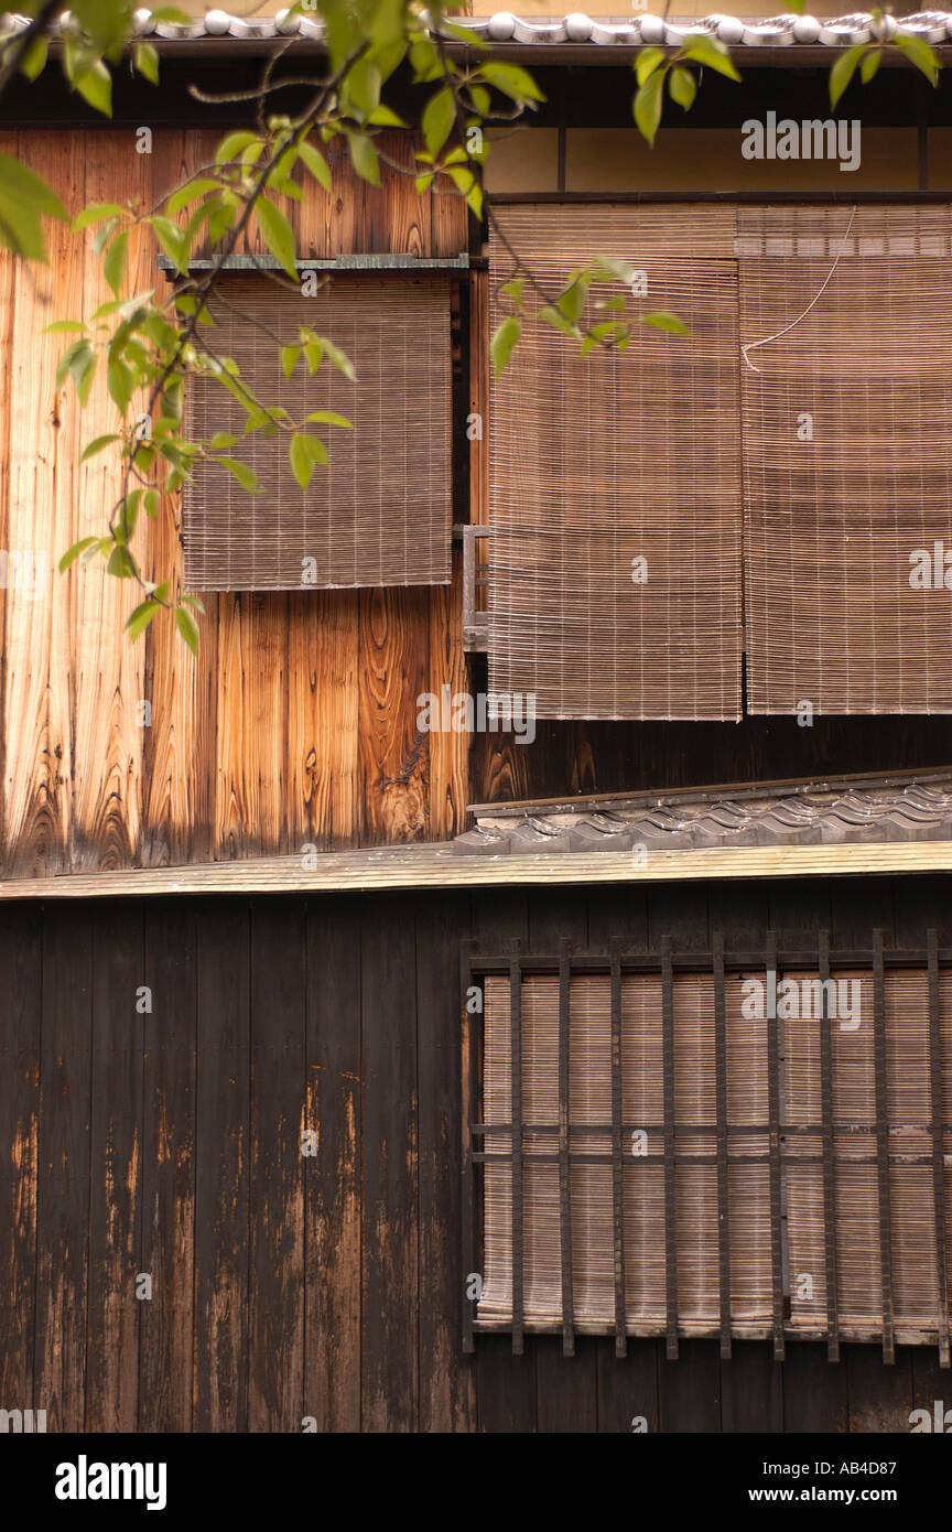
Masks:
[[[156,129],[139,155],[132,130],[5,133],[75,211],[139,199],[207,162],[219,133]],[[334,146],[331,146],[334,149]],[[412,158],[406,135],[386,152]],[[384,167],[355,182],[332,153],[332,195],[288,205],[303,256],[347,250],[456,254],[467,248],[458,198],[422,198]],[[257,234],[246,250],[260,248]],[[165,277],[133,237],[136,290]],[[106,297],[89,236],[51,227],[51,264],[0,256],[0,548],[41,550],[46,594],[0,591],[3,605],[5,876],[179,864],[294,850],[445,840],[462,824],[467,740],[416,731],[416,696],[462,674],[459,571],[448,590],[220,594],[205,599],[193,660],[159,619],[135,647],[122,622],[130,584],[96,561],[55,570],[80,536],[106,525],[116,473],[84,441],[110,429],[98,381],[86,415],[55,388],[63,336],[54,319]],[[147,568],[181,578],[178,498],[152,533]],[[139,726],[136,705],[152,703]]]

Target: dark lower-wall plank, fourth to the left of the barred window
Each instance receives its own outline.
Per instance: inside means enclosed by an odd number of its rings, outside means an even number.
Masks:
[[[305,1416],[305,907],[251,905],[249,1431]]]

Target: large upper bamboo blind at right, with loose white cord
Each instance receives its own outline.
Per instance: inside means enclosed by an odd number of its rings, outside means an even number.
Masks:
[[[950,712],[952,210],[736,218],[750,711]]]

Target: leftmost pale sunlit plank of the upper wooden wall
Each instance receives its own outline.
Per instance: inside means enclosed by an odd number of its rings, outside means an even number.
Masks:
[[[84,141],[77,133],[20,133],[18,153],[44,176],[70,211],[83,202]],[[67,225],[47,224],[49,265],[20,262],[14,290],[9,389],[8,548],[35,556],[44,581],[8,588],[5,797],[8,875],[58,873],[69,867],[72,804],[70,585],[58,556],[70,544],[78,487],[80,420],[69,389],[55,388],[63,336],[44,328],[84,308],[84,267]]]

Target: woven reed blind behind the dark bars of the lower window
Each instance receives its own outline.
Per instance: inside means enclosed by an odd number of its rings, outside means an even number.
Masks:
[[[946,956],[947,961],[947,956]],[[568,1167],[560,1204],[560,976],[520,977],[522,1325],[615,1328],[612,1190],[612,979],[568,979]],[[817,968],[787,968],[805,994]],[[623,1322],[632,1334],[724,1334],[719,1230],[729,1227],[729,1331],[871,1340],[892,1334],[947,1350],[943,1282],[952,1270],[952,971],[875,964],[833,973],[845,1013],[770,1022],[745,1014],[744,980],[724,974],[724,1132],[718,1121],[716,973],[673,971],[672,1056],[666,1065],[664,977],[620,974]],[[759,970],[761,979],[765,977]],[[565,980],[562,980],[565,982]],[[819,991],[814,990],[814,996]],[[482,1298],[478,1327],[513,1324],[511,979],[485,979],[482,1111]],[[859,1002],[859,1003],[857,1003]],[[935,1020],[931,1023],[931,1003]],[[813,1000],[814,1010],[819,1003]],[[856,1025],[854,1025],[856,1023]],[[826,1030],[826,1043],[822,1031]],[[932,1036],[935,1030],[935,1037]],[[883,1048],[877,1065],[877,1039]],[[831,1115],[823,1121],[828,1045]],[[937,1074],[934,1080],[934,1060]],[[673,1075],[673,1250],[666,1233],[664,1080]],[[771,1166],[770,1072],[776,1071],[778,1158]],[[941,1123],[934,1118],[934,1089]],[[882,1095],[880,1095],[882,1092]],[[880,1111],[882,1103],[882,1111]],[[825,1147],[825,1128],[830,1132]],[[499,1131],[502,1129],[502,1131]],[[883,1132],[877,1132],[883,1129]],[[635,1131],[647,1154],[632,1154]],[[727,1198],[718,1196],[724,1144]],[[826,1155],[826,1158],[825,1158]],[[880,1183],[885,1170],[885,1187]],[[944,1201],[937,1207],[935,1177]],[[771,1210],[771,1178],[776,1212]],[[830,1190],[826,1190],[826,1184]],[[781,1212],[782,1210],[782,1212]],[[724,1219],[721,1215],[724,1213]],[[571,1314],[562,1273],[562,1219],[571,1227]],[[891,1236],[883,1239],[883,1218]],[[782,1232],[781,1224],[782,1221]],[[774,1229],[776,1224],[776,1229]],[[773,1236],[776,1235],[776,1244]],[[836,1278],[826,1268],[833,1239]],[[944,1253],[937,1244],[944,1241]],[[675,1314],[667,1261],[673,1256]],[[943,1261],[944,1255],[944,1261]],[[774,1270],[774,1264],[778,1270]],[[782,1270],[781,1270],[782,1267]],[[885,1302],[883,1279],[889,1282]],[[836,1298],[836,1304],[831,1299]],[[782,1310],[781,1310],[782,1299]],[[779,1328],[778,1328],[779,1327]]]

